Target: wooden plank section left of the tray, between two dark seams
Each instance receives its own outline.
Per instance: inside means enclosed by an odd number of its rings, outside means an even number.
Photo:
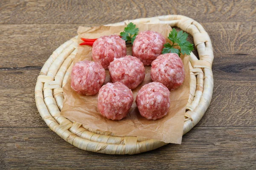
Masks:
[[[0,71],[1,127],[47,127],[35,105],[39,73],[38,69]]]

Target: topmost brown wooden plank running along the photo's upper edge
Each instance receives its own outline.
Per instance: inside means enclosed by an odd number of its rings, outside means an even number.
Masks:
[[[116,23],[141,17],[181,14],[199,22],[256,21],[256,3],[215,0],[19,1],[1,0],[0,23]]]

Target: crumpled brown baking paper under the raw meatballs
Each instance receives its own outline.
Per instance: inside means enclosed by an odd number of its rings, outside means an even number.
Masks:
[[[137,25],[140,31],[152,30],[163,34],[166,37],[172,30],[167,24],[141,24]],[[125,26],[99,26],[92,28],[79,27],[78,43],[81,37],[98,38],[103,35],[117,34],[124,30]],[[91,60],[92,47],[88,45],[78,45],[78,51],[74,63],[82,60]],[[131,45],[127,46],[127,54],[131,55]],[[145,67],[145,79],[143,83],[133,90],[134,103],[125,119],[113,121],[104,118],[97,109],[97,95],[83,96],[77,94],[70,87],[70,77],[63,88],[64,103],[61,115],[70,120],[79,122],[86,128],[113,132],[120,136],[140,136],[148,139],[157,139],[166,143],[181,143],[183,134],[183,123],[186,104],[189,99],[189,58],[182,56],[185,66],[185,80],[183,85],[175,91],[171,91],[170,111],[162,119],[148,120],[140,116],[135,99],[140,88],[151,82],[150,66]],[[106,70],[106,81],[110,82],[108,70]]]

